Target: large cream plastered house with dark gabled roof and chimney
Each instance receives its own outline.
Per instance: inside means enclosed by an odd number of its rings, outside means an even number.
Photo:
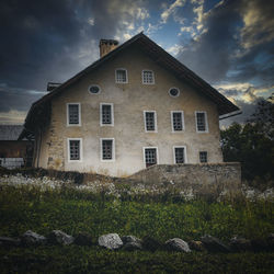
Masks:
[[[34,165],[129,175],[222,162],[219,118],[239,109],[145,34],[101,39],[101,58],[35,102],[20,138]]]

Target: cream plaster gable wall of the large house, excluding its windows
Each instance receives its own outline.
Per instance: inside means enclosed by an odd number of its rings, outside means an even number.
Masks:
[[[126,68],[128,83],[115,83],[115,69]],[[141,83],[141,70],[155,72],[155,84]],[[89,85],[101,87],[91,94]],[[181,90],[179,98],[168,93]],[[67,126],[67,103],[81,103],[81,126]],[[114,104],[114,126],[100,126],[100,103]],[[158,133],[145,133],[144,111],[157,112]],[[184,112],[185,130],[172,133],[171,111]],[[196,133],[195,111],[207,113],[209,133]],[[159,67],[137,48],[119,54],[95,72],[82,78],[53,101],[50,146],[43,146],[41,162],[48,168],[111,175],[128,175],[145,168],[142,147],[158,147],[159,163],[173,163],[173,146],[186,146],[189,163],[198,162],[198,151],[208,151],[209,162],[221,162],[219,121],[216,105]],[[68,162],[67,138],[82,138],[82,162]],[[101,162],[100,138],[115,138],[115,161]],[[47,138],[44,138],[47,139]],[[47,156],[48,153],[48,156]]]

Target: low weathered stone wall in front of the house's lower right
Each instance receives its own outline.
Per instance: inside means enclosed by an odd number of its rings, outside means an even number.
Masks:
[[[174,185],[179,190],[193,190],[198,194],[237,192],[241,186],[239,162],[201,164],[159,164],[129,176],[146,185]]]

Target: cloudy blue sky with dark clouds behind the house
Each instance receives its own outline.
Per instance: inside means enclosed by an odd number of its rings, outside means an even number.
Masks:
[[[0,0],[0,124],[23,124],[47,82],[99,59],[100,38],[144,32],[237,104],[274,92],[273,0]]]

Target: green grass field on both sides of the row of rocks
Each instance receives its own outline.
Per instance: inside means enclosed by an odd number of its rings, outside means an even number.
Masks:
[[[274,253],[125,252],[95,246],[103,233],[151,236],[162,242],[205,233],[228,240],[233,235],[263,238],[274,230],[274,205],[248,199],[233,203],[184,202],[172,195],[116,198],[76,190],[42,192],[5,186],[0,192],[0,236],[19,237],[31,229],[47,235],[60,229],[89,232],[92,247],[0,247],[1,273],[272,273]]]

